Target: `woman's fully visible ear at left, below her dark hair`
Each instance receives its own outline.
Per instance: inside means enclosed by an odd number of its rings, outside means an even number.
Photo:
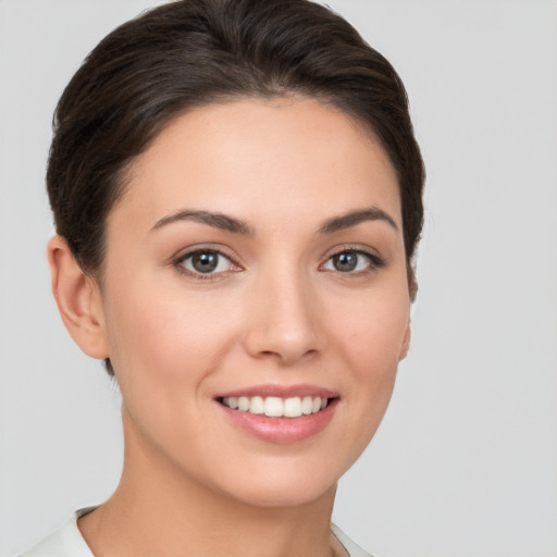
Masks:
[[[82,271],[62,236],[54,236],[48,243],[48,262],[52,294],[72,338],[88,356],[108,358],[99,285]]]

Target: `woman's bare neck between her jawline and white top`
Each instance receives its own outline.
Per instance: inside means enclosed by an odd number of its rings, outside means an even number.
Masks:
[[[336,485],[315,500],[261,507],[190,478],[126,431],[113,496],[78,525],[96,556],[329,557]]]

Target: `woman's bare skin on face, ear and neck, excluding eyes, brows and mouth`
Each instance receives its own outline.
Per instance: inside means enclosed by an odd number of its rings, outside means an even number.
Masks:
[[[369,208],[393,222],[323,233]],[[251,233],[169,222],[184,210]],[[342,554],[329,535],[336,482],[375,433],[410,338],[401,230],[372,134],[317,100],[242,99],[177,117],[136,159],[100,281],[50,242],[64,323],[86,354],[110,357],[123,396],[122,481],[78,523],[96,556]],[[228,259],[200,280],[184,256],[208,247]],[[347,250],[370,257],[341,272],[332,256]],[[338,401],[296,443],[250,435],[215,401],[300,383]]]

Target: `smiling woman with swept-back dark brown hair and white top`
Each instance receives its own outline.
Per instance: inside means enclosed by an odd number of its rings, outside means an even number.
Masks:
[[[408,350],[423,212],[391,64],[306,0],[163,5],[65,89],[47,183],[125,458],[26,555],[368,555],[331,513]]]

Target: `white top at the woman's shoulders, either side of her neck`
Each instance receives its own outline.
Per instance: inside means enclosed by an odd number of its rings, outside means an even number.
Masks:
[[[60,530],[50,534],[21,557],[95,557],[77,528],[77,519],[90,510],[92,508],[81,509],[74,512]],[[355,544],[335,524],[331,524],[331,531],[344,546],[348,557],[373,557]]]

